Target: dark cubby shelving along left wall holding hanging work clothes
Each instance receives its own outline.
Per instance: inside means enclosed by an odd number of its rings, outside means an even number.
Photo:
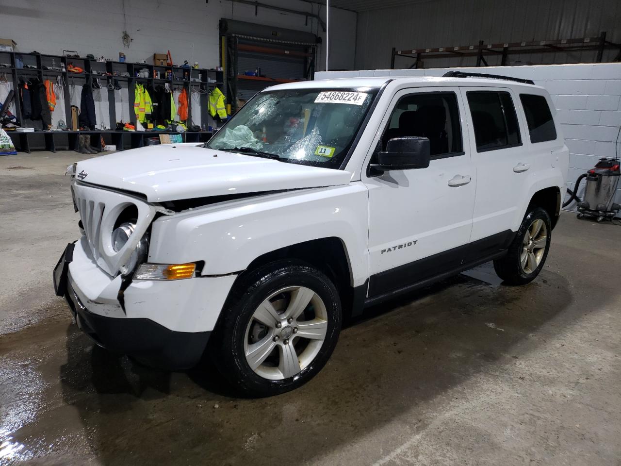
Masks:
[[[24,65],[33,66],[33,68],[19,68],[17,66],[17,60],[22,61]],[[24,52],[0,52],[0,63],[9,66],[0,66],[0,73],[10,75],[13,85],[13,90],[16,93],[14,99],[14,105],[16,109],[16,117],[22,126],[25,124],[23,118],[20,98],[19,98],[19,81],[21,79],[27,79],[35,76],[39,80],[43,81],[47,78],[55,80],[57,76],[62,76],[65,86],[63,87],[63,100],[65,103],[65,121],[67,126],[70,127],[71,122],[71,102],[70,102],[70,83],[74,80],[84,80],[84,84],[92,85],[93,79],[99,78],[102,80],[102,85],[107,85],[109,81],[127,81],[127,89],[129,93],[128,105],[129,105],[129,118],[132,124],[136,124],[136,117],[134,113],[134,96],[133,88],[135,83],[148,83],[153,86],[163,83],[169,83],[171,85],[181,85],[188,92],[188,119],[186,120],[188,126],[192,122],[192,88],[200,88],[207,93],[201,94],[201,121],[209,122],[209,126],[215,127],[215,121],[209,115],[209,91],[216,86],[223,85],[223,73],[218,70],[211,70],[205,68],[183,68],[181,66],[156,66],[147,65],[145,63],[128,63],[128,62],[98,62],[92,58],[78,58],[78,57],[65,57],[63,55],[47,55],[41,53],[24,53]],[[79,66],[84,71],[82,73],[73,73],[68,71],[68,65],[73,64]],[[65,71],[47,69],[49,67],[64,68]],[[135,73],[142,69],[147,68],[150,78],[138,78]],[[154,71],[160,71],[161,75],[166,76],[166,71],[173,72],[173,79],[153,78]],[[109,75],[107,74],[109,73]],[[116,74],[115,74],[116,73]],[[129,76],[120,76],[120,73],[127,73]],[[179,79],[180,78],[180,79]],[[102,91],[104,89],[102,88]],[[159,134],[180,134],[174,131],[117,131],[116,128],[116,97],[113,89],[107,89],[108,93],[108,112],[109,121],[105,122],[106,126],[111,129],[95,129],[95,130],[35,130],[35,132],[15,132],[7,131],[7,134],[11,136],[16,143],[17,148],[24,152],[30,152],[30,146],[32,139],[39,139],[43,136],[43,146],[45,150],[51,150],[56,152],[58,147],[66,147],[68,149],[78,148],[78,137],[80,134],[89,134],[94,136],[93,145],[99,150],[101,147],[101,138],[104,137],[106,143],[110,142],[117,146],[117,150],[123,150],[124,148],[142,147],[145,145],[145,139],[148,137],[154,137]],[[27,121],[29,126],[35,127],[37,122]],[[42,122],[40,126],[42,126]],[[38,126],[38,125],[37,125]],[[199,131],[199,132],[184,132],[183,137],[186,142],[204,142],[211,138],[211,131]],[[65,139],[66,138],[66,139]],[[66,143],[65,143],[66,140]]]

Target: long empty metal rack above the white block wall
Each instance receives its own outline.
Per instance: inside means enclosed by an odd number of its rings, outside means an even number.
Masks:
[[[479,40],[477,45],[460,45],[458,47],[412,48],[396,50],[392,48],[391,70],[394,70],[395,57],[405,57],[414,60],[409,68],[419,68],[422,60],[433,58],[462,58],[476,57],[476,66],[489,66],[486,57],[493,55],[501,57],[501,66],[507,65],[509,55],[528,53],[559,53],[582,52],[592,50],[596,52],[596,62],[601,63],[604,50],[619,50],[613,60],[621,61],[621,44],[606,40],[606,33],[599,37],[582,37],[579,39],[534,40],[525,42],[485,43]]]

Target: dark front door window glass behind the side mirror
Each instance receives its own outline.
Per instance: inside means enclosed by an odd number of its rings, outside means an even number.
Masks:
[[[399,99],[388,120],[381,142],[386,150],[394,137],[429,139],[432,158],[463,153],[460,116],[455,93],[416,93]]]

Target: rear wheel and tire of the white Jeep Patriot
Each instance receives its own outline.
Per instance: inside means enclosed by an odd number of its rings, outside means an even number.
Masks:
[[[507,255],[494,260],[494,270],[508,285],[525,285],[533,281],[543,268],[552,224],[545,209],[529,206]]]

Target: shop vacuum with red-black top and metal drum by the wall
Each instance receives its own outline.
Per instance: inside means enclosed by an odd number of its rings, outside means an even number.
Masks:
[[[573,191],[567,190],[569,199],[563,207],[576,201],[578,218],[594,218],[598,222],[604,219],[612,221],[621,210],[621,205],[613,202],[620,175],[618,158],[601,158],[594,168],[578,176]],[[586,178],[586,189],[584,199],[581,200],[576,193],[583,178]]]

